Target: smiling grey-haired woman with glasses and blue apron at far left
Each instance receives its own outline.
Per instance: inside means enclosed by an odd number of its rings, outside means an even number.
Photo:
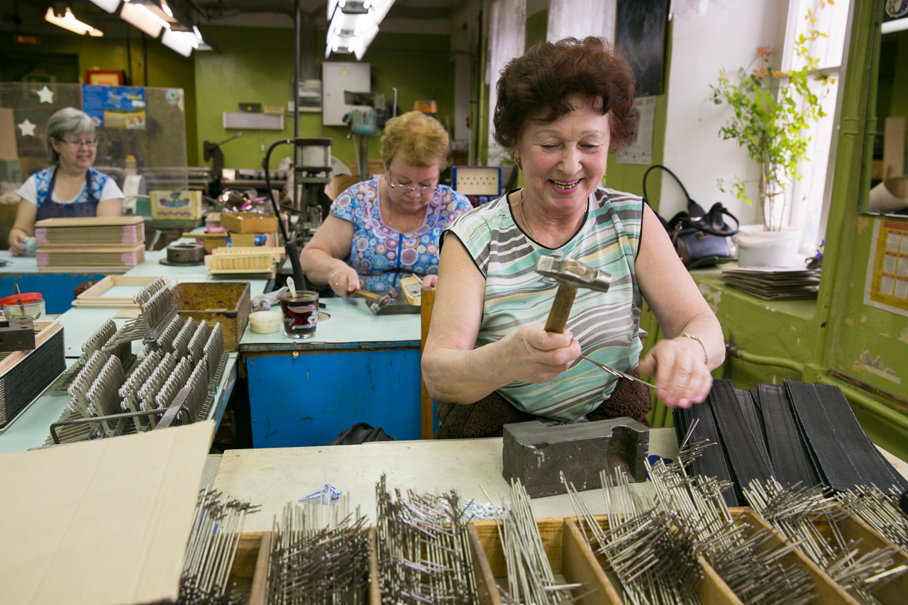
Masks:
[[[123,192],[92,168],[97,142],[92,118],[66,107],[47,120],[44,145],[51,165],[28,177],[16,192],[22,201],[9,232],[9,251],[25,253],[35,221],[74,216],[119,216]]]

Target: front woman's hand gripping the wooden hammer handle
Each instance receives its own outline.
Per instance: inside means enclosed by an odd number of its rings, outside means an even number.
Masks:
[[[501,356],[506,363],[502,375],[509,382],[548,382],[566,372],[580,356],[580,343],[571,332],[546,332],[541,323],[510,332],[499,343],[506,347]]]

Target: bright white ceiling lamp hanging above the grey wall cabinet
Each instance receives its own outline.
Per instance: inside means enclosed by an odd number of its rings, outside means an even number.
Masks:
[[[352,53],[362,60],[393,4],[394,0],[331,0],[325,58],[331,53]]]

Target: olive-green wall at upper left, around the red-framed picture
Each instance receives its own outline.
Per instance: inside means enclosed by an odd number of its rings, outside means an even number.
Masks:
[[[155,40],[147,39],[143,53],[143,34],[133,38],[61,34],[41,35],[40,45],[17,45],[14,35],[0,35],[0,62],[15,60],[17,55],[76,55],[78,73],[68,82],[84,82],[85,72],[94,68],[132,74],[135,86],[183,88],[185,95],[187,164],[196,165],[196,107],[192,58],[183,57]],[[128,46],[128,48],[127,48]],[[147,64],[148,80],[144,79]],[[58,79],[58,82],[63,80]]]

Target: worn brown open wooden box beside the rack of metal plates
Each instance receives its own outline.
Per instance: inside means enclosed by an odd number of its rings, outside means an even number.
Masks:
[[[210,325],[220,322],[224,351],[239,349],[252,304],[249,283],[178,283],[171,290],[171,302],[183,319],[192,317]]]

